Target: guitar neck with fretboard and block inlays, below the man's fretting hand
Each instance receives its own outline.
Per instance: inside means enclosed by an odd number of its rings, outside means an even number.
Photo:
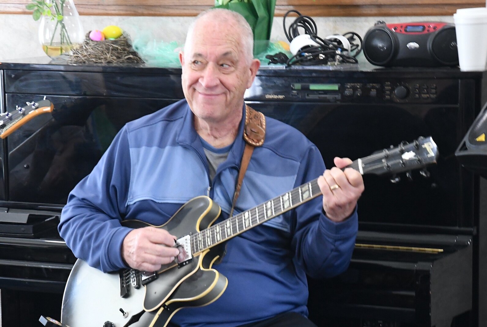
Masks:
[[[360,159],[347,167],[363,174]],[[318,178],[191,235],[193,253],[203,252],[321,195]]]

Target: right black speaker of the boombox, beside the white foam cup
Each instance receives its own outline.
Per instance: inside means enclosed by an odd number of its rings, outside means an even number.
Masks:
[[[438,34],[431,42],[431,52],[438,61],[445,65],[458,65],[458,50],[454,26],[438,31]]]

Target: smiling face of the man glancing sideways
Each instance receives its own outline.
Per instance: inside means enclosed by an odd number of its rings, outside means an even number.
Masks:
[[[179,58],[184,95],[193,113],[213,123],[240,114],[245,89],[260,62],[246,60],[235,24],[202,19],[189,42]]]

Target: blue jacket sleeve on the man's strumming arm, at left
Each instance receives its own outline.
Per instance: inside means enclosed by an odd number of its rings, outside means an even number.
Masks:
[[[130,228],[120,224],[130,184],[126,127],[115,136],[93,171],[68,196],[58,231],[77,258],[103,272],[126,267],[121,246]]]

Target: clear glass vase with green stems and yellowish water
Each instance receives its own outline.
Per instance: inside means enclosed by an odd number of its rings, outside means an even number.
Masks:
[[[39,26],[42,49],[51,58],[68,53],[84,40],[83,27],[73,0],[47,0],[51,13]]]

